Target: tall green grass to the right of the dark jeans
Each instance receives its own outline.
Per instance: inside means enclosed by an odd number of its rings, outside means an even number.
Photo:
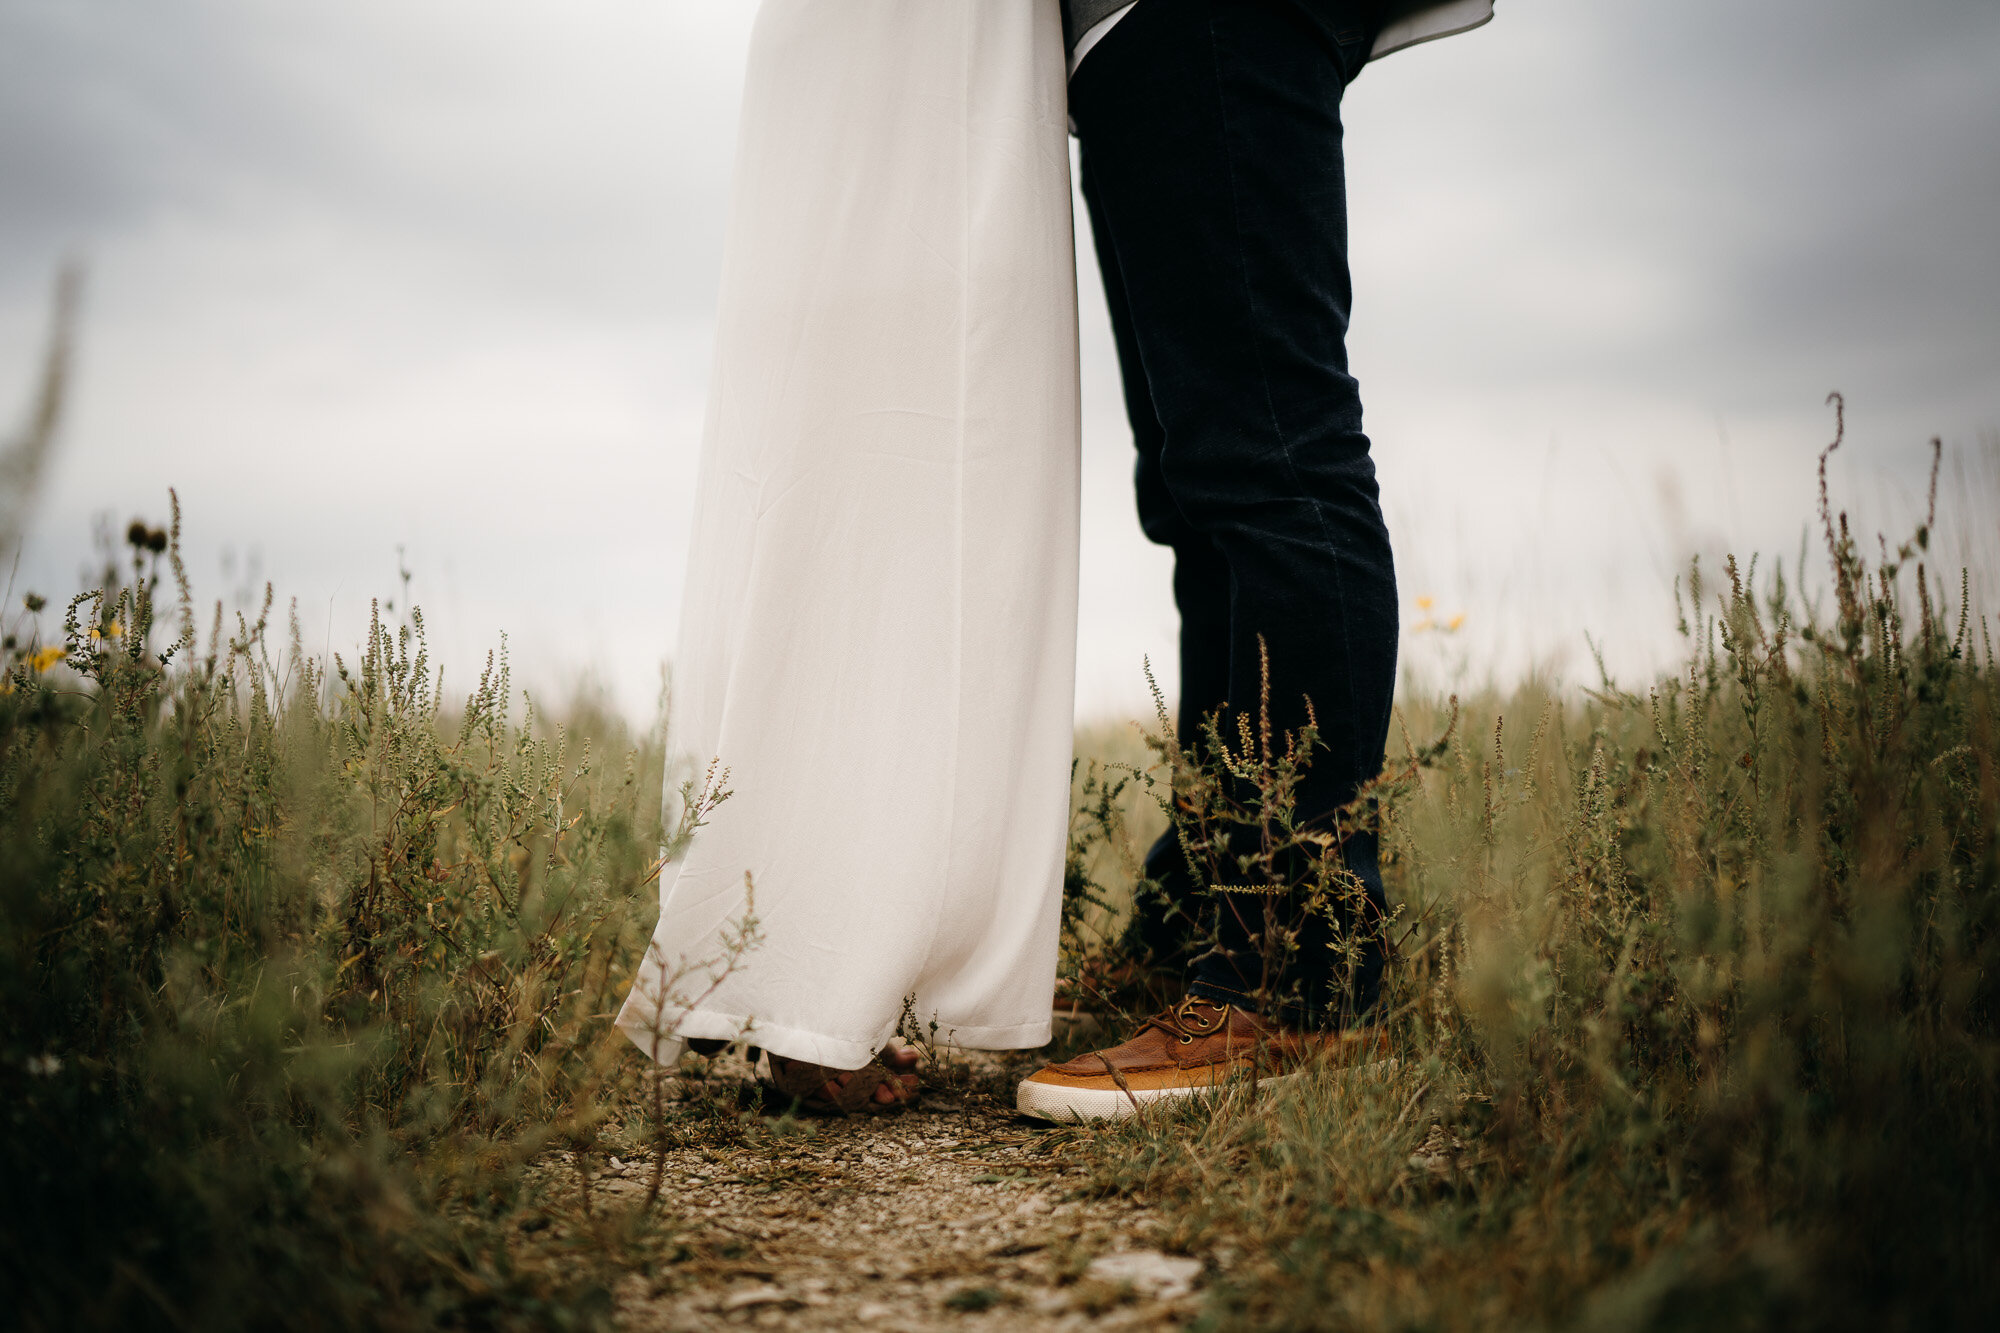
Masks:
[[[2000,1313],[2000,679],[1928,530],[1824,518],[1830,622],[1732,562],[1676,677],[1402,701],[1394,1063],[1052,1143],[1212,1327]]]

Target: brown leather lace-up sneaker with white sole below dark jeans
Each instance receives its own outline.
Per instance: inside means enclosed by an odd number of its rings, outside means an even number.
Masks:
[[[1028,1075],[1014,1105],[1048,1121],[1110,1121],[1154,1101],[1208,1093],[1252,1065],[1264,1083],[1282,1083],[1320,1053],[1358,1061],[1386,1051],[1388,1035],[1376,1027],[1298,1033],[1190,995],[1146,1019],[1124,1045]]]

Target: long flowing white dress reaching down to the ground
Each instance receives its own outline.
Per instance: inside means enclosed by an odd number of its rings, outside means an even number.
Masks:
[[[1048,1041],[1076,660],[1058,0],[764,0],[676,662],[726,801],[618,1025]],[[756,883],[764,943],[712,987]],[[692,971],[690,971],[692,969]],[[696,1001],[692,1003],[690,1001]]]

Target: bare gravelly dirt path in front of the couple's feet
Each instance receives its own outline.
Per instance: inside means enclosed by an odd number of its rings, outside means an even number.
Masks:
[[[666,1153],[662,1205],[696,1261],[616,1287],[620,1327],[1154,1329],[1200,1307],[1204,1261],[1166,1253],[1132,1201],[1082,1197],[1050,1129],[1012,1109],[1034,1067],[972,1057],[914,1111],[774,1121]],[[708,1075],[746,1085],[724,1057]],[[644,1197],[654,1155],[610,1157],[606,1203]]]

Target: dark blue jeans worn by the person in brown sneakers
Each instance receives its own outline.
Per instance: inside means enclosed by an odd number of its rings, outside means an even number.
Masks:
[[[1082,188],[1096,232],[1138,444],[1140,524],[1174,548],[1180,733],[1222,709],[1256,711],[1270,650],[1274,729],[1306,699],[1322,749],[1298,815],[1330,823],[1382,767],[1396,683],[1396,572],[1348,374],[1346,170],[1340,96],[1360,74],[1380,0],[1142,0],[1070,84]],[[1346,843],[1382,909],[1368,833]],[[1148,871],[1192,885],[1162,839]],[[1224,895],[1220,947],[1196,951],[1190,991],[1260,987],[1260,899]],[[1354,913],[1338,921],[1354,929]],[[1282,989],[1330,1023],[1374,1003],[1382,953],[1336,977],[1332,923],[1310,919]],[[1142,917],[1154,953],[1174,927]],[[1182,931],[1184,935],[1186,931]],[[1364,931],[1366,933],[1366,931]],[[1162,945],[1168,945],[1162,949]]]

